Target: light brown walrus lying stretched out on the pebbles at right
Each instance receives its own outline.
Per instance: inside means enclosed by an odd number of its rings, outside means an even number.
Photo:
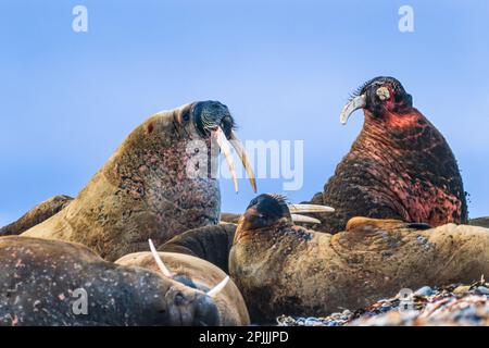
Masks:
[[[229,254],[229,275],[252,322],[326,316],[365,308],[401,288],[480,279],[489,274],[489,229],[353,217],[331,235],[292,224],[284,199],[248,207]]]

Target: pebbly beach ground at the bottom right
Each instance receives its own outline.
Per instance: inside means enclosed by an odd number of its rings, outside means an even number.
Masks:
[[[489,283],[424,286],[401,291],[368,308],[344,310],[326,318],[279,316],[279,326],[437,326],[489,325]]]

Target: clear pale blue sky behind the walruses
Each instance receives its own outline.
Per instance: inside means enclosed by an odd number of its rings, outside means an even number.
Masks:
[[[88,33],[72,9],[88,9]],[[414,9],[400,33],[398,9]],[[0,225],[58,194],[76,195],[153,112],[195,100],[229,105],[244,139],[303,139],[304,186],[322,189],[360,132],[338,115],[377,75],[399,78],[443,133],[489,215],[489,2],[0,2]],[[259,182],[280,191],[280,179]],[[254,196],[222,181],[223,210]]]

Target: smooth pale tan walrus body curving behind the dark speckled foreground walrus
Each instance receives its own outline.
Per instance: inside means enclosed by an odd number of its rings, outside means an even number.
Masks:
[[[212,263],[188,254],[159,252],[161,259],[174,274],[174,279],[204,293],[226,277],[221,269]],[[160,272],[151,252],[136,252],[125,256],[115,263],[137,265]],[[220,313],[220,326],[244,326],[250,324],[244,300],[233,281],[213,298]]]

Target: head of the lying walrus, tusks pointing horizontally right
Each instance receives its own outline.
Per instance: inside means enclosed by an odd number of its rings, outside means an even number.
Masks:
[[[318,223],[316,219],[302,213],[325,213],[335,211],[330,207],[316,204],[290,204],[287,198],[276,194],[263,194],[251,200],[241,215],[234,244],[249,233],[260,233],[276,227],[290,227],[294,222]]]

